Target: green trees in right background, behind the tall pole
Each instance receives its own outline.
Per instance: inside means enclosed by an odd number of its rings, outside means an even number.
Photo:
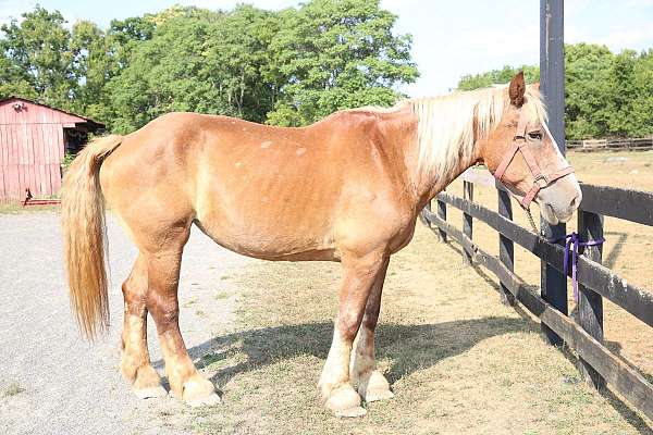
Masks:
[[[539,69],[505,66],[467,75],[463,90],[508,83],[523,70],[528,82]],[[565,125],[568,139],[644,137],[653,134],[653,50],[612,53],[591,44],[565,46]]]

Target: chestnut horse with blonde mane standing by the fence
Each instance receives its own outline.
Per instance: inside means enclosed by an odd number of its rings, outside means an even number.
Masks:
[[[190,225],[249,257],[340,261],[338,310],[319,388],[336,414],[362,415],[361,397],[393,396],[374,364],[381,291],[390,256],[410,241],[431,198],[484,163],[492,172],[505,166],[502,181],[520,198],[531,192],[553,224],[580,203],[545,119],[538,87],[518,74],[507,88],[348,110],[305,128],[172,113],[127,136],[98,139],[75,159],[63,191],[81,328],[93,338],[109,322],[104,201],[139,250],[122,286],[121,362],[139,397],[165,393],[150,365],[149,313],[173,394],[194,406],[220,400],[188,357],[177,323]]]

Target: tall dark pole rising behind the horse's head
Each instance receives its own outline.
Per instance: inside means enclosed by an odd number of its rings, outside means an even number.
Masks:
[[[565,55],[564,55],[564,0],[540,1],[540,86],[549,108],[549,129],[565,154]],[[541,221],[546,238],[565,235],[565,225],[549,225]],[[542,261],[542,298],[558,311],[567,314],[567,277]],[[563,339],[542,324],[542,331],[552,345]]]

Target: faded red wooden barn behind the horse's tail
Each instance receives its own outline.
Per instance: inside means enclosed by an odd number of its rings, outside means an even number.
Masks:
[[[57,194],[64,152],[77,152],[103,127],[23,98],[0,100],[0,200],[23,199],[27,188],[36,197]]]

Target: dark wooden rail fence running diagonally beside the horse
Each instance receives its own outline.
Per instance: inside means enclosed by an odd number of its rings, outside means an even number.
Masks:
[[[565,249],[513,222],[509,194],[486,171],[469,170],[463,175],[464,198],[442,192],[436,198],[436,211],[431,204],[421,213],[422,222],[441,240],[456,240],[463,247],[464,260],[475,262],[493,272],[501,282],[504,303],[516,300],[540,319],[543,325],[564,339],[580,357],[586,380],[596,388],[612,385],[636,408],[653,419],[653,385],[631,364],[624,362],[603,345],[603,298],[621,307],[649,326],[653,326],[653,294],[629,284],[601,264],[602,248],[587,247],[578,256],[579,284],[578,323],[557,311],[537,289],[528,286],[514,272],[514,244],[532,252],[554,269],[564,273]],[[498,213],[473,202],[473,185],[495,186]],[[653,226],[653,194],[613,187],[582,184],[582,203],[578,210],[578,233],[581,239],[603,237],[603,216],[614,216]],[[463,211],[463,229],[446,220],[447,206]],[[473,243],[473,220],[478,219],[498,232],[498,257]],[[571,268],[569,268],[571,269]],[[568,271],[570,275],[570,271]],[[542,295],[554,290],[541,289]],[[566,287],[562,289],[566,297]]]

